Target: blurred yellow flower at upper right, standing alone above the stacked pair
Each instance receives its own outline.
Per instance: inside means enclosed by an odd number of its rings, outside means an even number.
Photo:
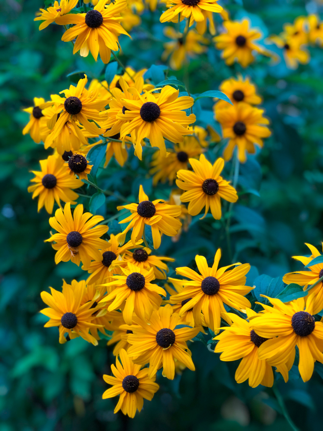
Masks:
[[[243,19],[242,22],[225,21],[223,26],[227,32],[213,38],[218,50],[223,50],[222,58],[227,65],[231,66],[235,61],[242,67],[247,67],[255,57],[252,51],[269,55],[267,50],[254,44],[255,39],[261,37],[261,33],[255,29],[249,30],[249,22]]]

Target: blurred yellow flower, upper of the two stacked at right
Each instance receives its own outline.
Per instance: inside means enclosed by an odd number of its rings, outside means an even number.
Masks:
[[[249,78],[243,79],[242,75],[239,75],[238,79],[226,79],[221,83],[219,90],[226,94],[234,105],[239,102],[249,103],[249,105],[261,103],[261,97],[256,93],[255,84],[252,84]],[[214,109],[228,108],[229,106],[230,104],[225,100],[219,100],[214,105]]]

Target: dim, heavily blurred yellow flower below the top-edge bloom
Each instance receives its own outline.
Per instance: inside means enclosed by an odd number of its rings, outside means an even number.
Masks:
[[[207,47],[201,44],[208,44],[208,39],[195,30],[189,30],[185,39],[183,39],[183,33],[179,33],[173,27],[165,27],[163,32],[173,41],[164,44],[162,60],[167,60],[171,55],[169,64],[174,70],[179,70],[183,63],[187,62],[187,56],[194,58],[196,54],[202,54],[207,50]]]

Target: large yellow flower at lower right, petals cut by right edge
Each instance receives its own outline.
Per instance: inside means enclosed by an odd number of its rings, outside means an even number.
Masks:
[[[260,337],[271,338],[258,349],[259,359],[269,359],[277,365],[295,359],[295,346],[299,351],[298,370],[303,381],[308,381],[314,370],[314,362],[323,363],[323,323],[315,322],[315,294],[305,304],[304,298],[283,303],[267,298],[273,307],[261,304],[267,311],[251,320],[251,326]]]

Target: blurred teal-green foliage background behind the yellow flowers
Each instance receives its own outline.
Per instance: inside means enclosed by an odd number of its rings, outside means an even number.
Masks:
[[[242,4],[237,0],[222,4],[232,18],[248,16],[264,36],[279,33],[282,25],[296,16],[320,11],[314,1],[243,0]],[[196,372],[185,370],[174,381],[158,372],[160,390],[152,402],[145,401],[140,414],[133,420],[121,412],[114,415],[116,399],[102,400],[107,388],[102,375],[110,373],[115,361],[106,340],[98,347],[82,339],[59,345],[57,329],[43,328],[46,318],[38,313],[43,308],[40,292],[48,286],[59,289],[62,278],[69,282],[85,274],[71,262],[56,266],[54,250],[43,242],[49,236],[49,215],[44,209],[37,213],[37,202],[31,200],[27,186],[32,178],[29,170],[38,170],[39,159],[49,153],[29,135],[22,136],[28,115],[21,109],[31,106],[33,97],[48,100],[50,94],[82,76],[67,76],[71,72],[102,78],[105,67],[90,56],[73,56],[71,44],[60,41],[62,27],[50,25],[38,31],[39,23],[33,19],[40,7],[40,0],[0,3],[0,431],[288,430],[271,389],[236,384],[237,363],[221,362],[199,342],[190,347]],[[162,64],[159,59],[166,39],[160,13],[145,12],[143,24],[131,33],[132,40],[120,38],[121,59],[136,70]],[[147,35],[147,29],[153,37]],[[212,44],[208,53],[189,64],[188,85],[193,94],[216,90],[223,79],[246,72],[264,97],[271,120],[273,134],[264,149],[241,166],[239,190],[254,192],[241,195],[232,219],[234,260],[253,265],[249,285],[258,273],[281,277],[301,268],[290,256],[308,253],[304,242],[320,248],[323,50],[310,50],[311,62],[296,71],[287,70],[283,62],[270,66],[267,59],[259,59],[246,71],[239,65],[228,67]],[[184,70],[170,74],[183,79]],[[212,103],[203,99],[201,104],[210,119]],[[202,120],[199,124],[203,125]],[[145,148],[142,162],[130,155],[123,169],[110,162],[106,170],[99,169],[98,181],[129,199],[137,199],[139,184],[151,197],[167,197],[171,187],[159,184],[153,190],[147,175],[152,152]],[[213,146],[207,157],[213,162],[220,154],[221,148]],[[228,177],[230,162],[226,169]],[[99,212],[109,217],[118,204],[109,198]],[[110,223],[110,233],[118,229],[116,222]],[[228,265],[226,244],[220,222],[196,217],[189,233],[182,234],[177,243],[163,238],[157,254],[176,258],[170,271],[174,276],[176,266],[194,268],[196,253],[211,261],[217,247],[223,250],[222,265]],[[304,431],[322,430],[323,366],[315,369],[307,383],[301,381],[295,367],[288,384],[277,381],[293,421]]]

